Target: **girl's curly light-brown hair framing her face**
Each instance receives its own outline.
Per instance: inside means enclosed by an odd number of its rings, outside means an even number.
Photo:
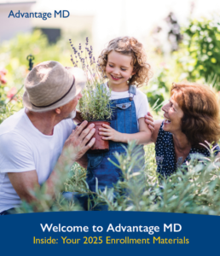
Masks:
[[[143,45],[138,42],[136,38],[114,38],[109,42],[107,48],[101,51],[101,55],[98,58],[99,70],[103,72],[105,76],[107,55],[112,50],[132,57],[131,65],[133,66],[133,71],[136,73],[129,79],[128,84],[136,84],[136,87],[140,87],[140,85],[144,83],[148,84],[148,80],[152,77],[152,72],[150,70],[150,65],[147,62],[147,55],[143,49]]]

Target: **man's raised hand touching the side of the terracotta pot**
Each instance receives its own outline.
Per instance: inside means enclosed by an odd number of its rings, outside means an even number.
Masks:
[[[88,151],[96,141],[96,138],[91,139],[96,131],[94,128],[95,125],[90,124],[86,127],[87,124],[88,122],[84,121],[81,125],[77,126],[64,144],[63,151],[70,148],[73,161],[82,158],[86,151]]]

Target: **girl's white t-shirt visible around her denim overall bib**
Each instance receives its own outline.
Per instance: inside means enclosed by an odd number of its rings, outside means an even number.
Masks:
[[[109,91],[107,83],[105,84],[105,86]],[[117,92],[112,90],[110,100],[124,99],[128,97],[130,97],[129,90],[122,91],[122,92]],[[135,106],[136,106],[137,128],[139,129],[138,119],[144,117],[149,111],[148,98],[141,90],[136,89],[136,95],[134,96],[133,101],[135,102]]]

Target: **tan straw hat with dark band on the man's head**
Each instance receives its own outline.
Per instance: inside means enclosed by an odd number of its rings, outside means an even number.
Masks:
[[[63,67],[57,61],[44,61],[25,79],[23,104],[34,112],[59,108],[84,89],[86,76],[78,67]]]

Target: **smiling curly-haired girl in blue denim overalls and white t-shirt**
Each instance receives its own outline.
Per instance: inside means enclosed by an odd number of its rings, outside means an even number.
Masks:
[[[112,90],[111,104],[113,118],[111,125],[103,125],[99,134],[103,140],[109,140],[109,151],[103,154],[87,154],[87,183],[91,191],[113,187],[121,177],[121,170],[108,159],[117,162],[114,152],[122,154],[124,147],[131,140],[138,144],[150,141],[151,131],[144,121],[148,113],[148,99],[141,90],[136,89],[143,83],[148,83],[150,65],[143,46],[136,38],[115,38],[109,42],[99,56],[101,70],[107,76],[104,86]],[[143,148],[139,154],[144,155]],[[133,170],[136,172],[136,170]]]

